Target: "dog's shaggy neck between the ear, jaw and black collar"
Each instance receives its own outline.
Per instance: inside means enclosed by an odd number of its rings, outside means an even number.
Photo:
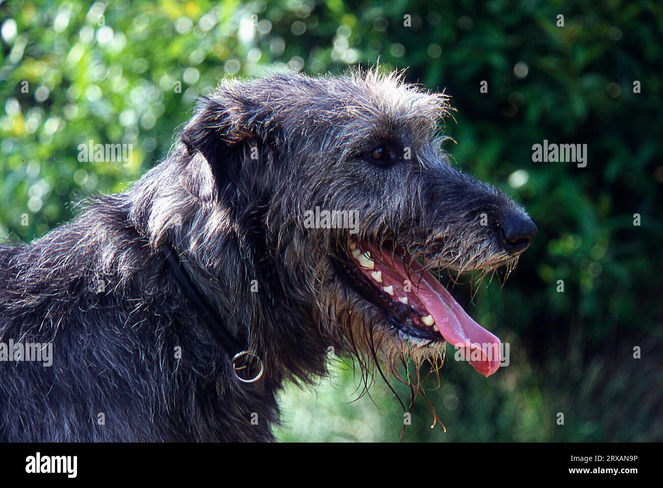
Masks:
[[[288,277],[270,251],[267,205],[260,199],[201,204],[178,184],[177,165],[169,161],[151,171],[170,183],[137,182],[129,218],[155,254],[170,244],[182,255],[183,268],[229,333],[263,359],[261,381],[278,388],[284,380],[324,374],[331,344],[318,335],[316,319],[291,302]]]

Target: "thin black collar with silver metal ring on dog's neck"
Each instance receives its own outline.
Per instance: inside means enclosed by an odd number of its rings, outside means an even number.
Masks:
[[[168,244],[164,244],[162,247],[162,252],[166,258],[166,262],[170,266],[175,278],[182,286],[184,293],[191,301],[192,305],[198,309],[200,312],[200,317],[210,329],[211,334],[214,338],[221,344],[221,347],[225,350],[228,357],[230,358],[233,367],[235,368],[235,375],[237,378],[245,383],[253,383],[263,376],[263,363],[260,358],[256,355],[254,351],[246,349],[245,346],[241,345],[235,337],[226,329],[223,325],[223,319],[221,315],[206,301],[205,297],[196,289],[196,286],[189,278],[188,274],[184,268],[182,268],[182,262],[180,257]],[[240,376],[239,371],[242,371],[244,374]],[[250,376],[247,378],[247,373]]]

